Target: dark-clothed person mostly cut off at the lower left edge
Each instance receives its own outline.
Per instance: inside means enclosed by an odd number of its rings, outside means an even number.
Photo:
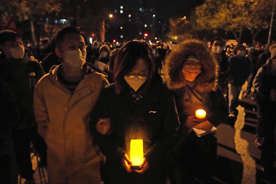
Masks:
[[[11,127],[19,120],[16,99],[7,85],[0,78],[0,181],[17,184],[16,162],[13,150]]]

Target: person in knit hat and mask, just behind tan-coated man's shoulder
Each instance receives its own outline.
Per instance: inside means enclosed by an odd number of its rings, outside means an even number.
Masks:
[[[109,62],[110,48],[108,45],[102,45],[100,47],[100,56],[97,61],[95,61],[95,66],[104,71],[107,68],[107,63]]]

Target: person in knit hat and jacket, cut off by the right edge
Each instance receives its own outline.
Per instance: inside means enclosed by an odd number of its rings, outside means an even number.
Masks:
[[[269,47],[271,57],[257,72],[253,87],[258,108],[256,145],[261,146],[264,172],[275,176],[275,116],[276,116],[276,44]],[[274,178],[275,179],[275,178]]]

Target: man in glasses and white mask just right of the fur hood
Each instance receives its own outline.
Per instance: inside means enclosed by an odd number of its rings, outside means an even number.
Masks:
[[[211,40],[211,50],[215,55],[216,61],[218,62],[218,85],[221,87],[223,94],[226,94],[229,81],[229,62],[223,48],[225,47],[225,41],[216,37]]]

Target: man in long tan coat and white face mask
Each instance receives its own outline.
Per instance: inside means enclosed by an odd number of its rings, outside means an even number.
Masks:
[[[53,66],[35,88],[34,113],[48,146],[49,183],[101,182],[101,153],[87,126],[101,89],[109,83],[104,72],[85,62],[81,34],[72,26],[57,32],[55,53],[62,64]]]

